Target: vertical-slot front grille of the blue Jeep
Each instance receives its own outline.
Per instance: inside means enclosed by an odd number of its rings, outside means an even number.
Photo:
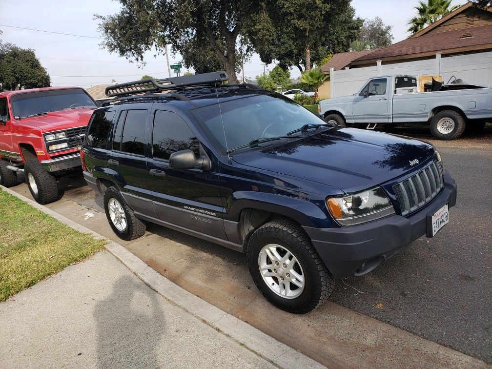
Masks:
[[[430,202],[444,186],[441,164],[437,160],[412,177],[395,184],[401,215],[407,215]]]

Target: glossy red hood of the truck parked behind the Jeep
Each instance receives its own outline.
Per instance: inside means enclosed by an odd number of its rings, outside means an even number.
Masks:
[[[94,109],[96,109],[96,107],[93,109],[78,108],[49,112],[46,115],[22,118],[20,124],[29,127],[38,127],[42,132],[80,127],[89,123]]]

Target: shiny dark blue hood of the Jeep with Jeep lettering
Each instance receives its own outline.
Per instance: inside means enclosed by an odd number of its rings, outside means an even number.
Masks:
[[[299,140],[273,144],[261,151],[238,154],[234,160],[349,193],[383,184],[415,170],[433,154],[434,148],[430,144],[418,140],[335,127]]]

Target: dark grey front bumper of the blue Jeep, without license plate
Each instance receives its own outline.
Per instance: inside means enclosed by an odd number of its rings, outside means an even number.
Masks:
[[[426,235],[428,215],[446,204],[450,208],[456,205],[456,182],[448,172],[444,175],[444,187],[439,195],[408,217],[390,215],[351,227],[303,228],[334,277],[361,276]]]

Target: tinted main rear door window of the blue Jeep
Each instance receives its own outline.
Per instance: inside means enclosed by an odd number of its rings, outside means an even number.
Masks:
[[[145,119],[147,110],[128,110],[123,126],[121,151],[144,155]]]

